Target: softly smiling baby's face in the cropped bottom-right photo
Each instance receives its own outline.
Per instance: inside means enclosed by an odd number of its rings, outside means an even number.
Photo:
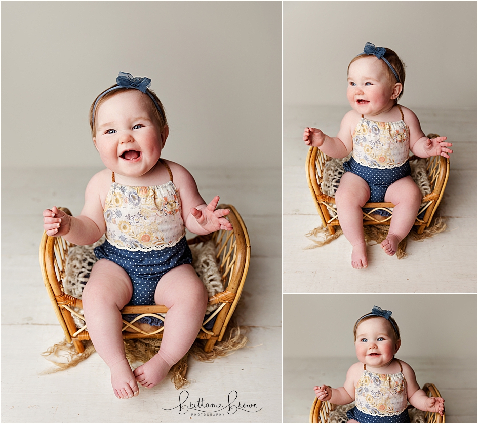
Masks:
[[[369,318],[357,327],[355,353],[360,362],[372,367],[387,366],[400,348],[391,324],[382,317]]]

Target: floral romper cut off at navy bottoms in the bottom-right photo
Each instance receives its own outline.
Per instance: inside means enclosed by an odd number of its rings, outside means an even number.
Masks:
[[[355,388],[355,407],[347,411],[348,419],[359,422],[410,422],[407,411],[407,380],[400,372],[378,374],[364,373]]]

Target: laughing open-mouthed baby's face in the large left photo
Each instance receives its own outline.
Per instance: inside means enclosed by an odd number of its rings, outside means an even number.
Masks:
[[[93,138],[105,166],[128,177],[146,175],[161,156],[167,127],[160,129],[139,90],[120,92],[96,111]]]

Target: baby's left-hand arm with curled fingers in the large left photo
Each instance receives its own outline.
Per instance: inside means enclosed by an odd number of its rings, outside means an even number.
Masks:
[[[43,211],[44,229],[48,236],[62,236],[66,241],[77,245],[89,245],[98,241],[104,234],[106,224],[100,200],[101,173],[88,183],[85,191],[85,205],[79,216],[73,217],[56,206]]]

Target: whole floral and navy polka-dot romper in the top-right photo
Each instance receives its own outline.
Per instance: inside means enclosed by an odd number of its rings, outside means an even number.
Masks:
[[[377,122],[360,119],[353,132],[352,157],[343,164],[345,172],[363,178],[370,187],[369,202],[383,202],[387,188],[411,173],[409,163],[410,130],[402,119],[396,122]],[[378,210],[375,213],[389,215]]]

